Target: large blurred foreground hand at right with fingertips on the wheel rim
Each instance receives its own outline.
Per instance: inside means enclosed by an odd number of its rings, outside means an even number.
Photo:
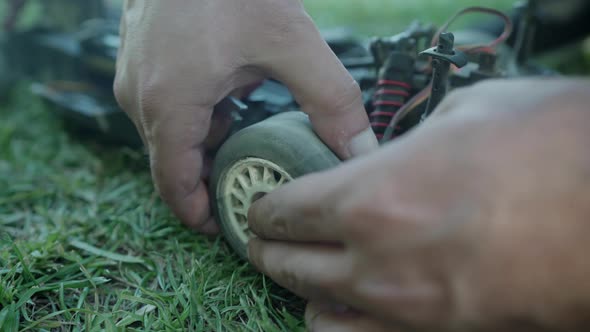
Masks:
[[[453,93],[379,151],[257,201],[250,260],[310,300],[313,331],[587,330],[589,87]]]

